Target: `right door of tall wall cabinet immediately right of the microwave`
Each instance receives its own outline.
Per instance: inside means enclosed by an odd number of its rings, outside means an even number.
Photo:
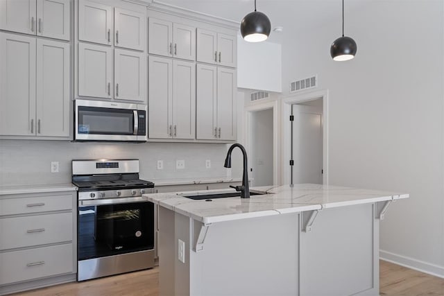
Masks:
[[[196,65],[173,60],[173,137],[194,139],[196,134]]]

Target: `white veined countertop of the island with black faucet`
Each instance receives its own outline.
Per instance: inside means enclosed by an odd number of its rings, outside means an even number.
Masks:
[[[252,195],[248,199],[217,198],[211,202],[191,200],[182,194],[228,193],[234,192],[234,189],[153,193],[144,196],[155,204],[205,224],[409,198],[408,194],[321,184],[252,187],[250,191],[267,194]]]

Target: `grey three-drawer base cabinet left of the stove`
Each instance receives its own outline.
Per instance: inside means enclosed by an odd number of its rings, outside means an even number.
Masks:
[[[76,279],[76,196],[0,195],[0,295]]]

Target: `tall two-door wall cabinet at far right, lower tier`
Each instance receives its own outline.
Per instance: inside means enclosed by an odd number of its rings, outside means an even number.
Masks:
[[[197,65],[196,139],[236,139],[236,70]]]

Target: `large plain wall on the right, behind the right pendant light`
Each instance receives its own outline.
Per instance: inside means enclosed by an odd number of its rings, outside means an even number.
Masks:
[[[382,256],[444,277],[443,1],[347,6],[355,60],[330,58],[340,19],[287,35],[284,93],[289,80],[318,74],[329,91],[330,184],[410,193],[381,223]]]

